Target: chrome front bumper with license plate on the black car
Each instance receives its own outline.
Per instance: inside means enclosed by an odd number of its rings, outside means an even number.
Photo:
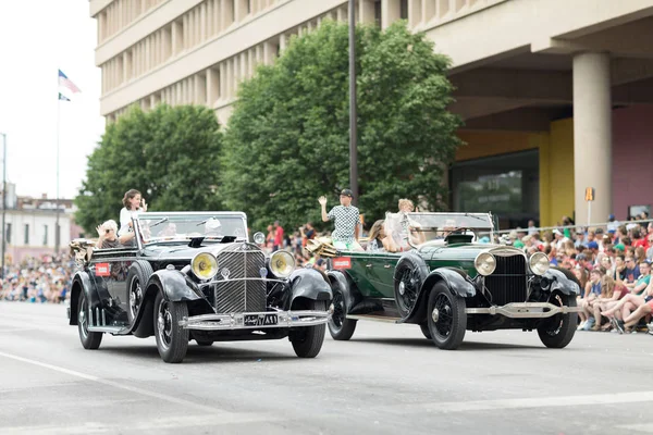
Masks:
[[[276,315],[276,323],[266,323]],[[184,318],[180,326],[185,330],[267,330],[270,327],[299,327],[321,325],[331,318],[330,311],[268,311],[257,313],[201,314]],[[262,322],[252,324],[254,320]]]

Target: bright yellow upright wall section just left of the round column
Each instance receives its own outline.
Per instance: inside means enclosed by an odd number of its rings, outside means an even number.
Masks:
[[[551,123],[540,148],[540,224],[556,225],[574,214],[574,120]]]

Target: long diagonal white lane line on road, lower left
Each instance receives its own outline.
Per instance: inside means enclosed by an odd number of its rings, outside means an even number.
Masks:
[[[201,403],[197,403],[190,400],[184,400],[184,399],[180,399],[178,397],[174,397],[174,396],[169,396],[165,394],[161,394],[161,393],[155,393],[155,391],[150,391],[147,389],[143,389],[143,388],[138,388],[138,387],[133,387],[133,386],[128,386],[128,385],[123,385],[120,384],[118,382],[113,382],[113,381],[108,381],[108,380],[103,380],[101,377],[98,376],[94,376],[91,374],[86,374],[86,373],[82,373],[82,372],[77,372],[75,370],[70,370],[70,369],[65,369],[65,368],[61,368],[58,365],[52,365],[52,364],[48,364],[46,362],[40,362],[40,361],[36,361],[36,360],[32,360],[28,358],[23,358],[23,357],[19,357],[16,355],[12,355],[12,353],[5,353],[5,352],[0,352],[0,357],[4,357],[4,358],[9,358],[15,361],[20,361],[20,362],[26,362],[28,364],[34,364],[34,365],[38,365],[41,366],[44,369],[49,369],[59,373],[64,373],[71,376],[75,376],[75,377],[79,377],[86,381],[90,381],[90,382],[95,382],[98,384],[102,384],[102,385],[107,385],[110,387],[114,387],[114,388],[119,388],[119,389],[124,389],[126,391],[130,393],[136,393],[143,396],[148,396],[148,397],[152,397],[159,400],[164,400],[171,403],[175,403],[175,405],[183,405],[186,407],[190,407],[193,409],[196,410],[202,410],[202,411],[207,411],[207,412],[211,412],[213,414],[219,413],[222,417],[225,415],[243,415],[242,413],[234,413],[234,412],[229,412],[229,411],[224,411],[220,408],[214,408],[214,407],[208,407],[206,405],[201,405]],[[257,418],[257,415],[254,414],[249,414],[248,418]],[[266,421],[272,421],[275,420],[275,418],[269,417],[264,419]],[[256,421],[256,420],[255,420]],[[258,420],[260,421],[260,420]]]

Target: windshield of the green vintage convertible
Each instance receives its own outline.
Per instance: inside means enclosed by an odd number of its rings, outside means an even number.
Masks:
[[[387,213],[385,233],[399,246],[422,245],[444,240],[451,234],[467,234],[473,241],[492,238],[492,215],[489,213]]]

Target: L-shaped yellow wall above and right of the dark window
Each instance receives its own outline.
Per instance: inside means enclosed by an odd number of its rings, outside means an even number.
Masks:
[[[555,225],[574,212],[574,120],[551,123],[549,133],[472,132],[458,134],[464,145],[456,161],[529,149],[540,150],[540,225]]]

